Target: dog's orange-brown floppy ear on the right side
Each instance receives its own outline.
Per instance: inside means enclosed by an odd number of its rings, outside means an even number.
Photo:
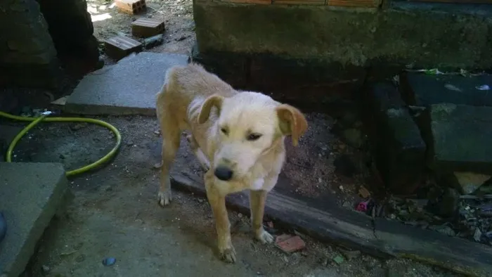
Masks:
[[[300,110],[287,104],[278,105],[276,110],[280,122],[280,131],[285,136],[290,135],[292,137],[292,145],[297,146],[299,139],[307,130],[306,117]]]

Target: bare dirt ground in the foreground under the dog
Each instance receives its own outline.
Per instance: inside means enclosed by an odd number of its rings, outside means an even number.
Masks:
[[[238,263],[216,257],[207,200],[175,192],[172,205],[157,205],[160,137],[154,118],[104,117],[123,137],[110,165],[70,180],[75,199],[51,226],[27,276],[451,276],[407,260],[380,261],[344,253],[304,236],[306,250],[284,254],[247,233],[247,219],[230,212]],[[21,125],[2,124],[8,141]],[[62,162],[73,169],[104,155],[114,143],[107,129],[87,124],[41,124],[22,139],[16,161]],[[184,143],[183,143],[184,144]],[[188,156],[183,145],[180,156]],[[176,165],[174,170],[183,166]],[[197,167],[198,168],[198,167]],[[238,227],[239,226],[239,227]],[[350,260],[347,257],[352,257]],[[103,266],[114,257],[113,266]],[[344,257],[337,264],[335,257]]]

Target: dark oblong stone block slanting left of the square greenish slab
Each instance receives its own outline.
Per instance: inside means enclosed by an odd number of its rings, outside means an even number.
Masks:
[[[391,82],[370,84],[366,96],[366,117],[372,119],[368,136],[384,186],[412,194],[420,185],[427,150],[420,129]]]

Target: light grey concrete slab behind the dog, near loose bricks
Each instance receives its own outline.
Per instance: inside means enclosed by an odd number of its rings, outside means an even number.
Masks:
[[[65,112],[83,115],[155,115],[155,94],[167,69],[188,56],[138,53],[86,75],[68,98]]]

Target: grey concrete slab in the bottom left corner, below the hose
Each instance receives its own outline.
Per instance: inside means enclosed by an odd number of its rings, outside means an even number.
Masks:
[[[18,277],[24,271],[67,194],[61,164],[0,162],[0,211],[7,221],[0,243],[1,277]]]

